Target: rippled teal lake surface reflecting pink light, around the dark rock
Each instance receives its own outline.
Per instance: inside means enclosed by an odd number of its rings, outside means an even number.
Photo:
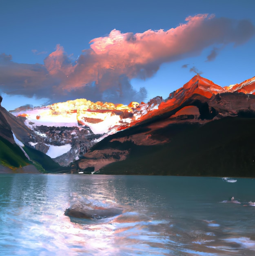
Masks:
[[[0,254],[255,255],[254,201],[253,179],[2,174]]]

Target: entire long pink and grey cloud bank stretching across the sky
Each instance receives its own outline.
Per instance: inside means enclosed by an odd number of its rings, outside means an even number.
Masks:
[[[208,14],[189,16],[185,23],[167,31],[133,34],[113,29],[108,36],[91,40],[90,48],[75,61],[60,45],[45,58],[44,65],[13,63],[10,56],[2,54],[0,88],[7,94],[47,97],[52,102],[86,98],[129,103],[134,97],[144,101],[146,89],[135,90],[131,79],[149,78],[162,63],[197,56],[207,47],[213,47],[207,57],[212,61],[221,47],[241,45],[254,34],[255,27],[248,20]],[[200,73],[195,67],[190,71]]]

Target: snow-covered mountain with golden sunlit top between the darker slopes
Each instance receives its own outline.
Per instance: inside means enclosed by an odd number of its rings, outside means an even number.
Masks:
[[[30,146],[67,166],[104,137],[131,127],[161,102],[162,98],[156,97],[147,104],[131,102],[126,106],[76,99],[43,108],[13,110],[12,114],[44,142],[38,145],[39,141],[30,141]]]

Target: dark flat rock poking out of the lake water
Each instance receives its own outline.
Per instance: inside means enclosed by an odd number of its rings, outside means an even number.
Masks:
[[[73,218],[83,219],[103,219],[120,215],[123,209],[120,207],[102,208],[102,209],[82,209],[80,207],[68,208],[64,215]]]

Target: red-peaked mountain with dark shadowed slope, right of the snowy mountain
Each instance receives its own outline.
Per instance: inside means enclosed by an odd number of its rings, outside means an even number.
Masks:
[[[193,77],[137,124],[93,146],[73,172],[254,177],[254,80],[228,92]]]

